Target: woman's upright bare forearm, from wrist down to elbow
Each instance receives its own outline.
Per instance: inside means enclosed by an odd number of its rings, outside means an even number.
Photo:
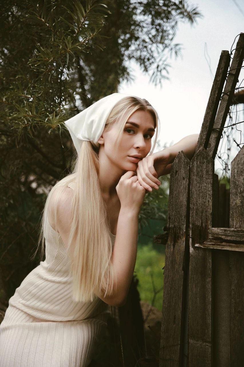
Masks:
[[[136,265],[138,213],[121,208],[112,253],[112,264],[117,275],[117,296],[125,301]]]

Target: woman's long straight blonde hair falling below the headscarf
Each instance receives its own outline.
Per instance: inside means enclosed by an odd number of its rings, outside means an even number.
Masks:
[[[151,113],[156,129],[155,141],[149,155],[154,151],[158,138],[159,118],[156,110],[146,99],[125,97],[110,112],[104,131],[110,130],[118,120],[121,126],[115,138],[119,145],[125,123],[136,110]],[[38,246],[41,243],[41,257],[44,256],[44,237],[51,207],[54,214],[55,230],[57,206],[68,185],[74,184],[71,200],[72,222],[69,234],[68,251],[71,259],[74,301],[93,301],[96,294],[111,295],[114,292],[115,271],[112,266],[112,243],[109,234],[107,206],[101,195],[99,184],[99,148],[90,141],[82,141],[79,155],[75,155],[73,173],[58,181],[48,194],[42,211]],[[50,205],[52,202],[52,205]],[[37,252],[36,250],[36,252]],[[36,255],[36,252],[34,256]]]

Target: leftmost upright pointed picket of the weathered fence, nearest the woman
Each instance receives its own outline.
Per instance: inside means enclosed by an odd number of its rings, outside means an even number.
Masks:
[[[160,367],[181,366],[185,327],[185,282],[189,247],[185,246],[190,161],[183,153],[175,157],[170,174],[169,213],[164,266]]]

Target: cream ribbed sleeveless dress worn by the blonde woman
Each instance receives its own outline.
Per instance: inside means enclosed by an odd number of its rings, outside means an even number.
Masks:
[[[107,325],[109,306],[100,298],[71,299],[67,249],[46,223],[45,261],[16,288],[0,325],[0,367],[86,367]]]

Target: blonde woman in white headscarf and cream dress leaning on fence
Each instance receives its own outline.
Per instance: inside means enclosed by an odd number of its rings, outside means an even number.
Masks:
[[[108,305],[122,306],[137,254],[138,214],[180,150],[152,154],[158,115],[145,99],[114,93],[65,123],[74,171],[49,192],[38,244],[45,260],[16,288],[0,325],[1,367],[85,367]],[[152,147],[152,137],[156,134]]]

